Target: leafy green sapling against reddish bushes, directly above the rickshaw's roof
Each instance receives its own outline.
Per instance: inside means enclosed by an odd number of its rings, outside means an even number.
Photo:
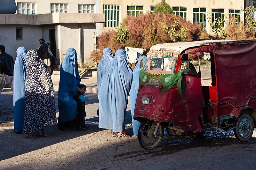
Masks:
[[[178,21],[174,20],[173,24],[169,26],[164,26],[164,30],[170,35],[173,42],[180,41],[182,38],[186,38],[186,27],[179,26]]]

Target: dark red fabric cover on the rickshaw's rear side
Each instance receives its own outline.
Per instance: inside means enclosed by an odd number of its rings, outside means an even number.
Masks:
[[[219,117],[232,115],[233,109],[256,107],[256,42],[226,45],[215,51]]]

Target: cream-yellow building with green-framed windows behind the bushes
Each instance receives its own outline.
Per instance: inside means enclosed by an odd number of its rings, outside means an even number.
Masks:
[[[244,6],[252,5],[252,1],[247,0],[165,0],[174,10],[176,15],[186,18],[188,21],[202,23],[208,33],[211,27],[207,21],[207,14],[212,14],[213,18],[227,16],[239,16],[244,22]],[[103,3],[104,2],[104,3]],[[119,26],[126,15],[138,16],[141,13],[153,12],[154,6],[161,0],[139,0],[139,1],[101,1],[100,9],[106,14],[106,22],[101,24],[103,30]],[[245,3],[245,4],[244,4]],[[114,13],[114,15],[113,15]],[[114,21],[114,22],[113,22]]]

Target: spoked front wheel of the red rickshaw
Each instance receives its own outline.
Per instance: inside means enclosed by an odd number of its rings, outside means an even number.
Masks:
[[[139,142],[146,150],[156,149],[164,137],[164,126],[161,122],[148,120],[139,128]]]

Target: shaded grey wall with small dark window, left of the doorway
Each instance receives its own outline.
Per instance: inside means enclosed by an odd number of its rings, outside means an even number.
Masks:
[[[0,44],[6,48],[6,53],[12,55],[15,60],[17,48],[24,46],[27,50],[36,49],[40,46],[42,38],[41,26],[33,25],[0,25]],[[23,40],[16,40],[16,27],[22,27]]]

